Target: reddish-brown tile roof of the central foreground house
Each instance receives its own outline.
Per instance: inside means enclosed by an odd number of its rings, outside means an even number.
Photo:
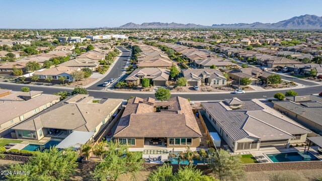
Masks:
[[[154,112],[155,106],[168,110]],[[174,97],[164,102],[132,98],[124,110],[114,137],[201,137],[189,101]]]

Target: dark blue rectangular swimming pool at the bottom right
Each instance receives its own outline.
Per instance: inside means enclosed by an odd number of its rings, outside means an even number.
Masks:
[[[315,161],[318,160],[313,154],[306,151],[287,152],[266,154],[273,162],[289,162],[289,161]]]

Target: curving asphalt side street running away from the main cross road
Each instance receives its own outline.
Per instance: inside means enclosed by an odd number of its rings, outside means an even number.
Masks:
[[[114,62],[115,63],[114,67],[111,69],[111,71],[104,78],[102,78],[100,81],[98,81],[94,85],[89,86],[87,89],[102,90],[103,88],[105,88],[103,86],[103,82],[108,81],[111,78],[117,79],[118,76],[122,75],[122,71],[125,70],[126,62],[129,58],[129,55],[131,54],[131,51],[126,48],[123,48],[121,46],[118,46],[117,48],[122,51],[122,54],[121,54],[120,58],[116,62]],[[119,68],[119,69],[117,69],[117,68]],[[119,72],[117,72],[117,71],[119,71]]]

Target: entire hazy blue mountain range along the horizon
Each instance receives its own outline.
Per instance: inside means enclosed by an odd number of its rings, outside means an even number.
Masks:
[[[302,15],[283,20],[277,23],[237,23],[237,24],[213,24],[212,26],[179,23],[127,23],[118,28],[143,29],[143,28],[245,28],[245,29],[322,29],[322,17],[315,15]]]

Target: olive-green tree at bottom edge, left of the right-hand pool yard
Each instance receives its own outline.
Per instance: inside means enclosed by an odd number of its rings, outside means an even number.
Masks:
[[[208,159],[208,166],[219,180],[237,180],[245,176],[244,165],[240,155],[230,156],[228,151],[220,149]]]

